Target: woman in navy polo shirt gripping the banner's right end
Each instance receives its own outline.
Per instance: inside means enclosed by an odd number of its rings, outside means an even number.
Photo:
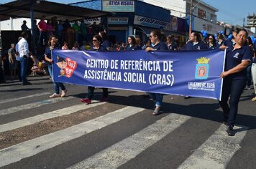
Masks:
[[[252,49],[246,45],[248,33],[240,29],[234,37],[234,46],[221,46],[227,49],[225,69],[220,77],[224,78],[219,105],[224,112],[224,123],[227,123],[227,135],[234,135],[234,121],[237,116],[239,98],[247,82],[247,66],[252,62]],[[230,96],[230,99],[229,99]],[[229,105],[227,101],[229,100]]]

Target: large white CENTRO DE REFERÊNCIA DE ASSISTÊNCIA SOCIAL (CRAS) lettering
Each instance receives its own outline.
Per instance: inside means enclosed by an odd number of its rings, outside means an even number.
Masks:
[[[87,59],[86,67],[89,69],[85,70],[84,79],[168,86],[172,86],[174,83],[173,74],[164,74],[173,72],[173,61]],[[121,72],[121,70],[144,72]],[[145,72],[148,72],[147,75]]]

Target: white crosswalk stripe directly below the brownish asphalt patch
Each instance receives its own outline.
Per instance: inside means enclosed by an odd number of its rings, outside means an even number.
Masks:
[[[19,143],[17,145],[12,145],[9,148],[4,148],[0,150],[0,167],[17,162],[23,158],[30,157],[44,150],[73,140],[77,137],[81,137],[89,132],[99,130],[102,127],[119,122],[120,120],[123,120],[131,115],[135,115],[138,112],[142,112],[143,110],[145,109],[140,107],[124,107],[120,110],[110,112],[101,117],[96,117],[93,120],[83,122],[79,125],[74,125],[64,130],[52,132],[48,135],[42,135],[41,137],[28,140],[24,143]]]

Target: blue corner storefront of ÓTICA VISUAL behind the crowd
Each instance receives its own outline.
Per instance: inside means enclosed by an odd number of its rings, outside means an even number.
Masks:
[[[111,16],[101,18],[112,43],[127,42],[129,35],[140,37],[145,42],[152,29],[165,30],[170,23],[169,10],[142,1],[99,0],[71,5],[112,12]]]

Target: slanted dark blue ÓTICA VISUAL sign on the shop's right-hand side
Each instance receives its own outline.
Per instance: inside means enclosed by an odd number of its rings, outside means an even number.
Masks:
[[[147,18],[144,16],[134,16],[134,24],[142,25],[142,26],[148,26],[153,28],[164,28],[168,25],[168,22],[166,21],[160,21],[157,19]]]

